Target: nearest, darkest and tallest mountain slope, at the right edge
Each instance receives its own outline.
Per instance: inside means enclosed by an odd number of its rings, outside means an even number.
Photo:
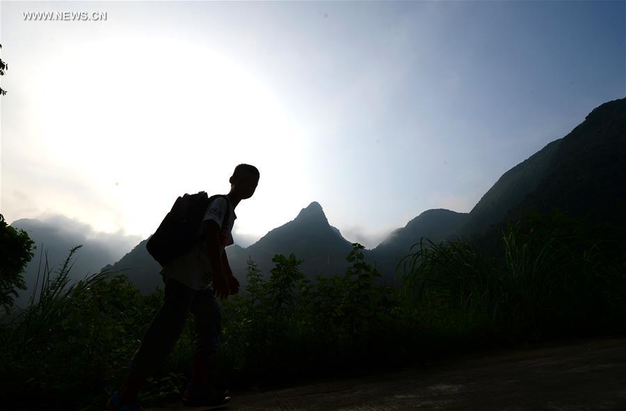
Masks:
[[[626,98],[593,109],[561,139],[544,178],[508,211],[518,220],[558,207],[597,238],[624,241],[626,233]]]

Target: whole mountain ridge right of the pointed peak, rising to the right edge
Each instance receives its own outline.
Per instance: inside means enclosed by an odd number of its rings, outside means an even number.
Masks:
[[[424,211],[392,232],[371,256],[381,272],[390,273],[420,236],[435,243],[461,237],[496,252],[507,219],[552,207],[586,221],[597,238],[623,241],[625,181],[626,99],[618,99],[593,109],[570,134],[505,172],[470,213]]]

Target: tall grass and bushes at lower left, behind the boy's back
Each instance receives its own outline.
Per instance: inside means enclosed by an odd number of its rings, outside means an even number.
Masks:
[[[90,401],[94,387],[114,389],[152,320],[154,298],[142,298],[126,275],[102,271],[68,287],[79,248],[54,272],[46,257],[29,307],[0,329],[4,401],[29,393],[31,401],[72,398],[75,408]]]

